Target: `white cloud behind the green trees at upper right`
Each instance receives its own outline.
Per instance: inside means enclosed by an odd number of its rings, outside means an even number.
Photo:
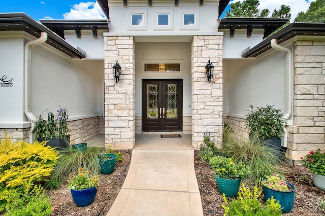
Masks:
[[[259,10],[263,9],[269,9],[270,10],[270,15],[272,15],[274,9],[279,10],[281,8],[281,5],[286,5],[289,6],[291,11],[291,22],[297,17],[298,13],[300,12],[306,12],[310,6],[311,2],[315,2],[316,0],[259,0]],[[243,0],[234,0],[231,1],[230,3],[235,3],[235,2],[243,2]]]

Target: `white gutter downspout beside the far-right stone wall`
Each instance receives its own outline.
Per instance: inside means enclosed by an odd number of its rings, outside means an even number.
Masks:
[[[286,79],[287,79],[287,84],[286,84],[286,112],[284,114],[284,119],[287,122],[287,125],[292,125],[292,121],[288,122],[288,118],[291,116],[292,113],[292,109],[293,109],[293,53],[291,52],[290,49],[287,49],[285,47],[282,47],[280,45],[277,44],[277,40],[276,39],[272,39],[271,41],[271,47],[273,49],[276,49],[278,51],[281,52],[285,52],[286,53]],[[285,128],[285,123],[283,124],[283,130],[284,130],[284,134],[282,136],[282,140],[283,140],[283,145],[282,147],[287,148],[287,139],[288,139],[288,131]]]

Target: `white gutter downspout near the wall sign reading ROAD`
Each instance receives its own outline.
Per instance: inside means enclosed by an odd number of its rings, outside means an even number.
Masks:
[[[41,37],[34,41],[29,41],[25,45],[24,50],[24,112],[27,118],[30,121],[31,127],[29,130],[29,142],[33,142],[35,140],[35,122],[36,117],[31,113],[31,102],[30,102],[30,68],[31,68],[31,55],[30,49],[36,45],[43,44],[47,40],[47,33],[41,32]]]

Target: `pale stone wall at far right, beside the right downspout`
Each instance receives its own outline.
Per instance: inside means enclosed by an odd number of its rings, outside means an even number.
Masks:
[[[288,158],[325,150],[325,42],[294,42],[294,126],[288,130]]]

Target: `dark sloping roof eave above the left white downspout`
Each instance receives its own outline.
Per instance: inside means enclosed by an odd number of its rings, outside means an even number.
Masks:
[[[44,25],[30,18],[24,13],[0,13],[0,31],[25,31],[36,38],[40,38],[41,32],[48,34],[46,43],[55,49],[73,57],[84,58],[85,54],[68,44],[62,38]]]

